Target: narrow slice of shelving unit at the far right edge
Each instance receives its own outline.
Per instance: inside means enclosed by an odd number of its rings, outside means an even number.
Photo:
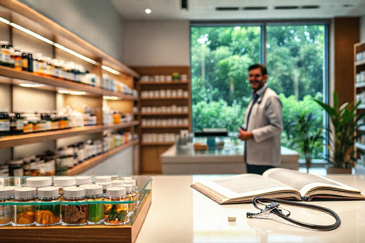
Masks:
[[[363,43],[357,43],[354,44],[354,104],[357,103],[356,101],[356,95],[360,94],[362,92],[365,91],[365,82],[364,83],[357,83],[356,81],[356,74],[365,71],[365,59],[361,60],[361,61],[356,61],[356,54],[359,52],[365,51],[365,42]],[[357,107],[357,112],[358,113],[363,113],[365,112],[365,104],[362,103]],[[357,131],[355,133],[365,133],[365,126],[360,126]],[[365,150],[365,144],[362,144],[360,142],[356,142],[355,143],[355,150],[357,149],[361,149],[361,150]],[[364,164],[359,164],[357,163],[355,166],[355,170],[357,168],[363,168],[365,169],[365,165]]]

